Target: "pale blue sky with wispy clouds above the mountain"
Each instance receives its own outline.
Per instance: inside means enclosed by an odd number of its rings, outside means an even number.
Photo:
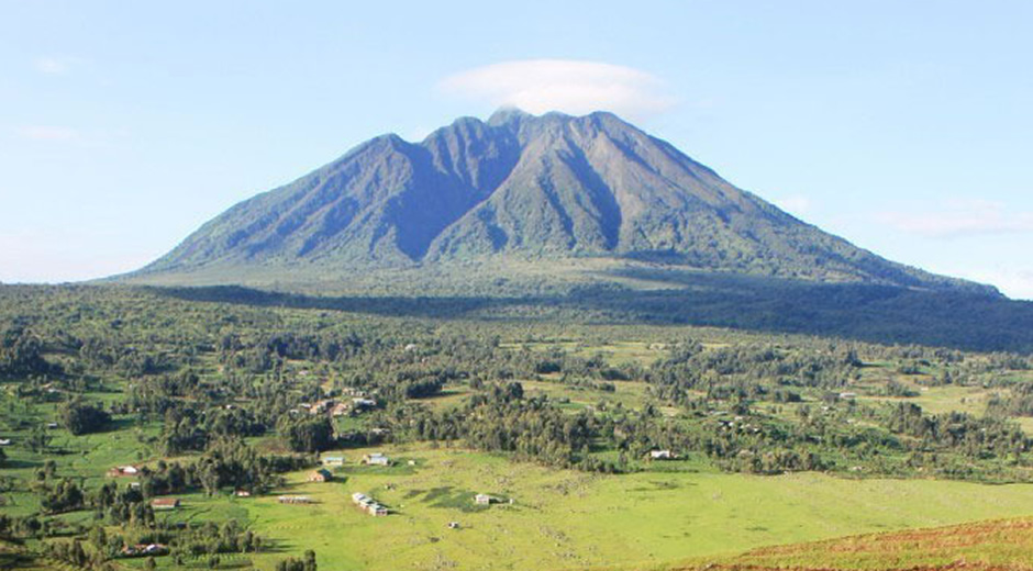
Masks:
[[[134,269],[366,138],[516,103],[617,111],[1033,299],[1033,2],[556,4],[0,0],[0,281]]]

